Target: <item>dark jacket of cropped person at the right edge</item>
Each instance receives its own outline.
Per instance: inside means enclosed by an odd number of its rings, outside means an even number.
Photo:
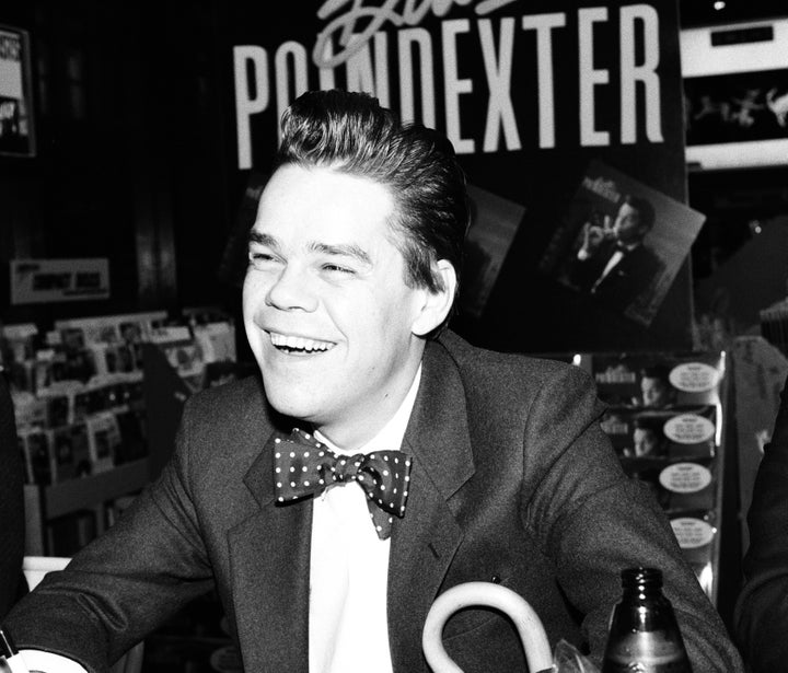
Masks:
[[[764,449],[748,512],[750,547],[734,612],[737,639],[753,673],[788,666],[788,381]]]

